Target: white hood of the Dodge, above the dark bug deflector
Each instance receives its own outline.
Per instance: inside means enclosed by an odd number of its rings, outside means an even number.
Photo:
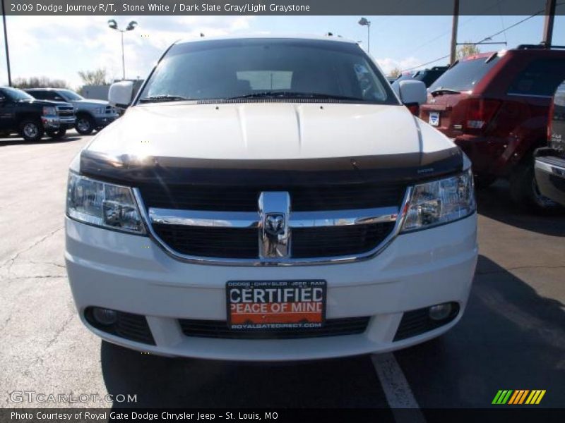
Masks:
[[[405,106],[145,104],[90,144],[109,156],[316,159],[434,152],[453,147]]]

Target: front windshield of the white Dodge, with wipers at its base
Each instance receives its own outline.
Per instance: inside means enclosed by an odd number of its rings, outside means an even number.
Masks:
[[[241,97],[398,104],[388,82],[357,44],[305,39],[229,39],[174,45],[139,99]]]

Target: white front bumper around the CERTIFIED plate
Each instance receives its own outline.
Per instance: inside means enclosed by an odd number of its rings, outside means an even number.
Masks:
[[[477,216],[399,235],[380,255],[348,264],[287,267],[179,262],[150,238],[66,218],[66,266],[83,323],[107,341],[157,355],[220,360],[307,360],[385,352],[439,336],[460,319],[477,262]],[[226,319],[225,283],[325,279],[328,319],[370,317],[364,333],[326,338],[239,340],[185,336],[179,319]],[[393,341],[403,312],[457,302],[450,323]],[[89,306],[147,317],[155,345],[91,326]]]

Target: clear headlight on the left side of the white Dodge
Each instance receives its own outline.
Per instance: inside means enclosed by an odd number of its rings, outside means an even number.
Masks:
[[[69,172],[66,214],[104,228],[145,233],[131,189]]]

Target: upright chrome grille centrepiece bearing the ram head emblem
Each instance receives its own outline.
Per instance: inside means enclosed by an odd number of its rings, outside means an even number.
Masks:
[[[290,253],[290,196],[288,192],[261,192],[259,196],[259,257],[283,259]]]

